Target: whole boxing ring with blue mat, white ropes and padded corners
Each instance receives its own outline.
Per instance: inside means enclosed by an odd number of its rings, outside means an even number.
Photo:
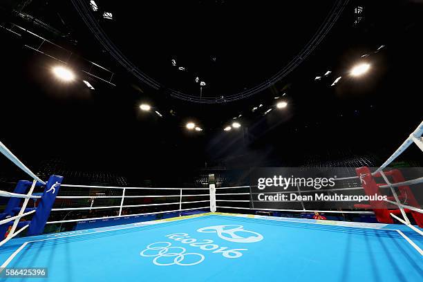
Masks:
[[[319,211],[374,214],[380,220],[395,218],[403,223],[400,225],[222,213],[252,209],[248,205],[250,193],[245,190],[248,186],[192,189],[66,185],[61,184],[60,176],[51,176],[44,182],[0,143],[1,152],[33,179],[21,183],[26,189],[20,193],[16,189],[0,191],[0,196],[17,200],[10,205],[9,214],[0,218],[1,226],[8,227],[8,234],[0,243],[0,281],[8,280],[6,270],[19,267],[45,267],[48,275],[37,278],[40,281],[422,281],[423,232],[411,224],[409,216],[418,222],[423,210],[402,202],[402,189],[422,183],[423,178],[390,182],[386,176],[391,171],[384,171],[410,144],[417,144],[423,151],[422,133],[423,122],[379,169],[366,173],[368,168],[358,168],[359,176],[348,177],[364,183],[364,187],[354,187],[361,190],[373,189],[368,183],[382,178],[385,183],[376,186],[392,192],[393,197],[386,202],[397,209],[372,210],[363,206],[361,210]],[[346,178],[337,179],[343,180]],[[44,189],[41,196],[32,194],[36,187]],[[66,189],[75,188],[113,190],[119,195],[66,194]],[[142,195],[131,191],[142,191]],[[140,205],[126,202],[131,198],[164,196],[174,200]],[[37,207],[27,207],[31,198],[39,201]],[[119,205],[55,207],[61,200],[108,198],[118,200]],[[160,211],[125,212],[147,206]],[[51,213],[92,209],[111,209],[115,215],[48,221]],[[190,211],[203,213],[183,216]],[[167,213],[178,216],[43,234],[45,226],[57,223]],[[27,236],[17,236],[23,231]]]

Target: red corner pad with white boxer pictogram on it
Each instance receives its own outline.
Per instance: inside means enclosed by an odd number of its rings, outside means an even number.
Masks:
[[[374,196],[375,194],[382,196],[368,167],[359,167],[355,169],[355,172],[359,176],[361,186],[364,188],[367,196]],[[393,223],[388,206],[384,200],[370,200],[369,202],[370,208],[375,212],[376,219],[379,223]]]

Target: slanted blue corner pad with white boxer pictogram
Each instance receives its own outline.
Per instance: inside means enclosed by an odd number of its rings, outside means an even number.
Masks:
[[[59,194],[62,180],[63,176],[50,176],[50,178],[48,178],[43,196],[39,200],[35,216],[32,217],[30,226],[28,227],[28,236],[39,235],[44,231],[44,226],[46,225],[48,216],[50,216],[51,208],[55,203],[57,194]]]

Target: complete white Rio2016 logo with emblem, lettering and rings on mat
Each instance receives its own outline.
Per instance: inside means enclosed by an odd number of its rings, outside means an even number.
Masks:
[[[219,238],[233,243],[256,243],[263,240],[263,235],[245,230],[243,225],[216,225],[197,229],[200,233],[214,233]],[[213,254],[222,254],[227,259],[236,259],[243,256],[241,251],[247,249],[229,249],[229,247],[220,247],[214,244],[213,240],[197,240],[191,238],[187,233],[175,233],[166,235],[167,238],[179,241],[182,244],[188,244],[191,247],[198,247],[203,251],[210,251]],[[178,250],[178,252],[176,252]],[[140,253],[141,256],[155,256],[153,263],[155,265],[196,265],[204,261],[205,256],[198,253],[187,253],[184,247],[172,247],[169,242],[156,242],[147,246]],[[187,259],[185,261],[185,259]],[[183,262],[185,261],[185,262]]]

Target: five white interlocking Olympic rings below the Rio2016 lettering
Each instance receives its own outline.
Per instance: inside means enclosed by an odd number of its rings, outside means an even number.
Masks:
[[[187,253],[185,247],[171,247],[169,242],[156,242],[147,246],[145,250],[140,252],[141,256],[155,256],[153,263],[155,265],[197,265],[204,261],[205,257],[203,254]],[[173,258],[172,260],[166,261],[166,258]],[[185,259],[189,261],[189,258],[194,257],[194,262],[182,263]],[[197,257],[197,259],[195,259]],[[170,262],[169,262],[170,261]]]

